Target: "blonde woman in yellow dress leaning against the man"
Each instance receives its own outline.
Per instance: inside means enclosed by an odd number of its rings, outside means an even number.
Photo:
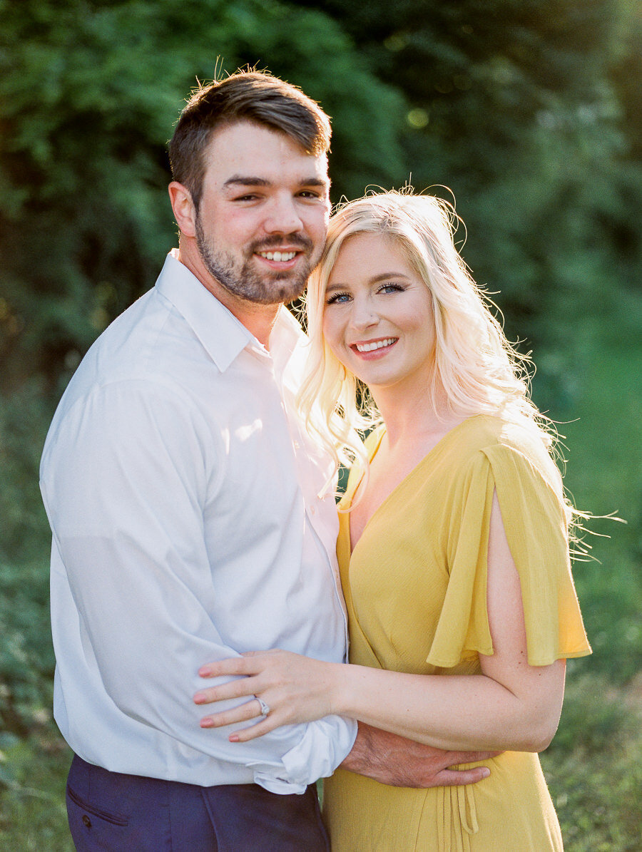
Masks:
[[[564,660],[590,653],[570,575],[572,509],[520,357],[454,248],[438,199],[344,206],[309,285],[309,428],[358,459],[340,504],[350,664],[286,652],[205,667],[256,695],[232,734],[341,713],[443,749],[500,750],[476,786],[326,782],[338,850],[562,849],[535,754],[558,726]],[[376,404],[357,408],[365,384]],[[379,413],[377,413],[379,412]],[[380,416],[379,416],[380,415]],[[380,423],[365,449],[357,429]]]

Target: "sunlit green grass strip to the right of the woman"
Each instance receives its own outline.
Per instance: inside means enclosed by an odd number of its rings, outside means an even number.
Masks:
[[[642,849],[642,305],[621,293],[606,320],[578,317],[558,354],[567,400],[559,431],[575,505],[626,524],[587,522],[575,584],[593,656],[571,661],[564,712],[542,765],[566,852]],[[552,412],[556,412],[556,407]],[[560,417],[560,419],[562,419]]]

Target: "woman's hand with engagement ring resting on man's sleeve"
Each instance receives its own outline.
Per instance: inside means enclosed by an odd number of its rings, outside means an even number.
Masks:
[[[269,713],[256,725],[230,734],[231,742],[246,742],[281,725],[313,722],[329,716],[334,712],[333,688],[341,668],[338,663],[324,663],[278,649],[250,651],[240,657],[204,665],[199,670],[201,677],[241,677],[221,686],[201,689],[194,695],[194,704],[248,696],[255,696],[255,699],[202,718],[200,727],[222,728],[260,717],[264,709],[258,698],[269,707]]]

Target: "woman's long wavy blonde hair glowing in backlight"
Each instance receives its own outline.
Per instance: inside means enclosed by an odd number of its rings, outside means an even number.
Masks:
[[[319,266],[309,280],[305,314],[309,362],[298,407],[307,428],[335,463],[367,464],[364,430],[380,422],[367,390],[334,356],[323,337],[327,282],[346,239],[380,234],[394,240],[430,291],[435,360],[426,393],[445,391],[455,415],[501,414],[528,424],[550,449],[552,428],[529,399],[529,357],[506,340],[488,296],[454,246],[457,216],[442,199],[412,191],[367,195],[331,218]]]

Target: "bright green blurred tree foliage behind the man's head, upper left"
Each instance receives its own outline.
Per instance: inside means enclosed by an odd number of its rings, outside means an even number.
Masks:
[[[0,16],[5,390],[33,372],[55,387],[153,284],[175,241],[165,141],[217,57],[218,73],[269,66],[321,101],[341,192],[399,170],[402,98],[321,13],[277,0],[0,0]]]

